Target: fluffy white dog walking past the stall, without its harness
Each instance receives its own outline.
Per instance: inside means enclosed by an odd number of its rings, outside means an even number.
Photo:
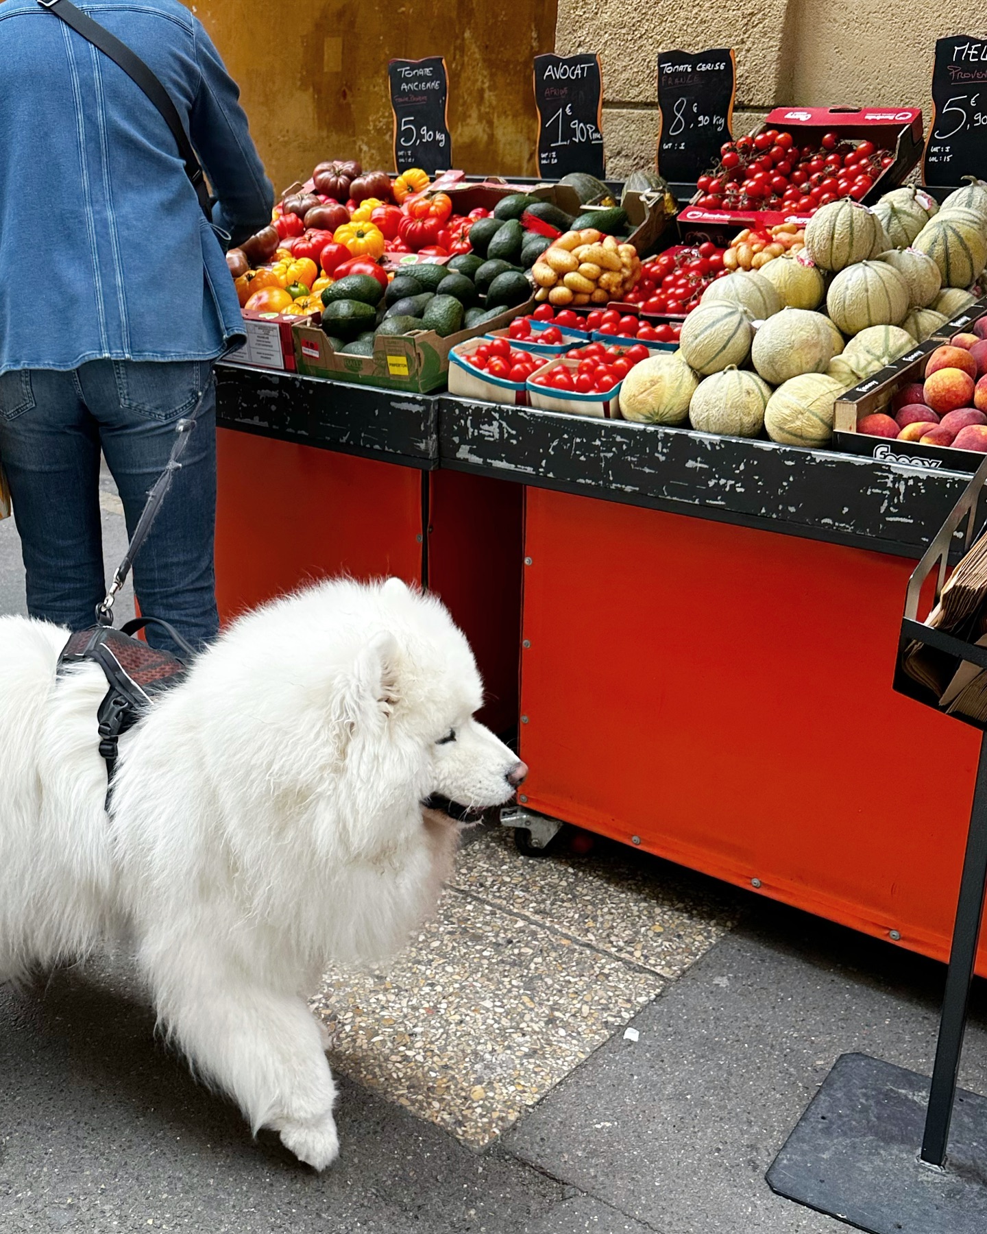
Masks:
[[[106,682],[56,681],[67,637],[0,618],[0,980],[131,938],[194,1071],[322,1169],[336,1088],[306,996],[433,908],[458,827],[422,802],[496,806],[527,770],[473,719],[466,639],[394,579],[257,610],[121,742],[107,817]]]

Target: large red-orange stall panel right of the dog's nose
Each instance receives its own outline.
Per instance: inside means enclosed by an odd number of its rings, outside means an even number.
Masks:
[[[529,808],[946,958],[980,739],[891,689],[913,563],[537,489],[524,553]]]

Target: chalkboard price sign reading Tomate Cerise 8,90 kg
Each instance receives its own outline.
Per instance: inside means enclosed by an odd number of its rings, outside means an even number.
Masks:
[[[737,63],[732,47],[658,54],[658,170],[695,184],[732,139]]]

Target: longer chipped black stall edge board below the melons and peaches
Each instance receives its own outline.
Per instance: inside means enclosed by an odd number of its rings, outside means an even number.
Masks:
[[[968,475],[774,442],[443,397],[440,465],[920,557]]]

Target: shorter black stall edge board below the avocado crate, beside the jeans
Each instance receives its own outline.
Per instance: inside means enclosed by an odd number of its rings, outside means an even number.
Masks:
[[[438,399],[217,364],[216,422],[341,454],[431,471],[438,466]]]

